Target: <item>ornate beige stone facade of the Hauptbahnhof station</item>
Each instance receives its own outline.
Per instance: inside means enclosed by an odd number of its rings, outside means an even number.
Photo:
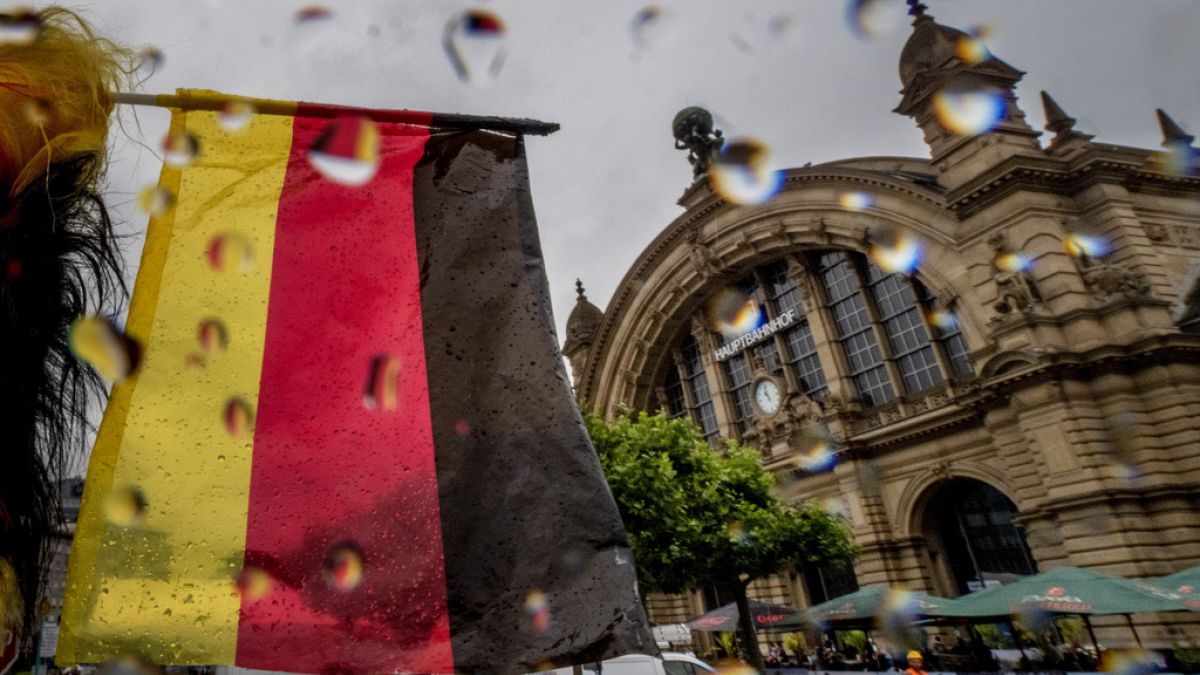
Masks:
[[[1054,135],[1039,142],[1016,103],[1020,71],[995,56],[961,61],[947,47],[959,35],[918,17],[901,58],[896,112],[922,129],[931,159],[790,169],[779,195],[757,207],[728,203],[704,183],[690,187],[684,213],[638,256],[607,309],[581,310],[588,324],[566,353],[578,396],[606,416],[670,408],[664,383],[680,341],[695,338],[720,436],[760,447],[791,501],[845,504],[862,585],[959,593],[930,519],[938,489],[964,479],[1012,502],[1040,571],[1072,565],[1142,578],[1194,566],[1200,334],[1188,322],[1200,312],[1200,179],[1192,139],[1162,115],[1166,151],[1098,143],[1044,96]],[[1000,124],[976,136],[942,126],[932,96],[980,82],[1006,101]],[[868,205],[846,208],[847,193]],[[817,251],[869,252],[880,232],[923,244],[912,276],[930,293],[928,307],[956,317],[972,372],[953,376],[948,352],[936,351],[944,377],[906,392],[875,325],[896,395],[865,405],[811,267]],[[1108,250],[1080,252],[1079,235]],[[1012,256],[1025,263],[1010,264]],[[739,426],[707,311],[714,294],[780,262],[804,298],[828,390],[804,396],[785,369],[784,411]],[[773,339],[782,353],[787,345]],[[805,471],[798,456],[814,424],[836,441],[830,471]],[[758,591],[763,601],[808,604],[794,575]],[[695,596],[652,597],[650,609],[671,622],[703,608]],[[1181,631],[1200,635],[1188,617],[1135,621],[1147,645],[1175,643]],[[1102,643],[1130,641],[1123,619],[1096,623]]]

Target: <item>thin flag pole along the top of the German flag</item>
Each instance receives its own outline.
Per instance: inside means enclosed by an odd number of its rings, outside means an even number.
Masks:
[[[188,96],[186,94],[131,94],[118,91],[113,94],[118,103],[126,106],[154,106],[158,108],[181,108],[185,110],[220,110],[229,103],[246,102],[254,106],[254,112],[264,115],[295,115],[298,104],[290,101],[271,101],[268,98],[250,98],[245,96],[222,96],[206,94]],[[426,113],[421,110],[379,110],[349,106],[304,104],[302,114],[308,117],[362,115],[374,121],[418,124],[438,129],[485,129],[488,131],[510,131],[533,136],[548,136],[558,131],[557,123],[532,120],[526,118],[502,118],[494,115],[463,115],[458,113]]]

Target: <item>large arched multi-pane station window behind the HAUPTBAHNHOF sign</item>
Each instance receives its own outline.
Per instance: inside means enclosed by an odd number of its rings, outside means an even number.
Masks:
[[[811,289],[811,297],[800,292],[802,285]],[[758,368],[820,401],[828,393],[827,374],[836,371],[828,359],[840,351],[846,371],[839,375],[850,380],[853,394],[868,408],[972,375],[966,340],[937,299],[916,277],[886,273],[854,251],[812,251],[779,259],[746,273],[720,293],[733,293],[739,303],[757,307],[760,321],[744,330],[787,321],[769,335],[746,340],[727,327],[716,330],[706,306],[698,318],[712,330],[688,335],[673,350],[660,381],[661,405],[672,416],[690,414],[710,442],[720,434],[719,396],[727,399],[721,419],[733,434],[754,425],[750,389]],[[828,336],[821,339],[823,352],[818,330]],[[704,350],[714,352],[708,371]]]

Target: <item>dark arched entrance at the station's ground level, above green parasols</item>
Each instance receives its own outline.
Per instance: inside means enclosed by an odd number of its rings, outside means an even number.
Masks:
[[[937,484],[925,500],[922,531],[943,592],[967,593],[1004,574],[1036,574],[1037,563],[1003,492],[970,478]]]

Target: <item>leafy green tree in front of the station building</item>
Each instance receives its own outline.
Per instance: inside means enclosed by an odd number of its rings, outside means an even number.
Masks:
[[[790,566],[850,561],[856,549],[845,521],[816,504],[786,504],[757,450],[731,441],[713,452],[690,420],[638,413],[613,422],[587,414],[584,422],[642,589],[713,585],[730,593],[742,641],[761,671],[746,587]]]

